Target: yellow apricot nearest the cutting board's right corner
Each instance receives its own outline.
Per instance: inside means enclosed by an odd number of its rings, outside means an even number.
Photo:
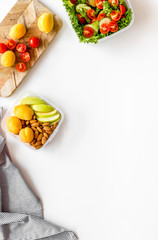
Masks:
[[[38,27],[44,33],[49,33],[54,27],[54,19],[50,13],[43,13],[38,20]]]

